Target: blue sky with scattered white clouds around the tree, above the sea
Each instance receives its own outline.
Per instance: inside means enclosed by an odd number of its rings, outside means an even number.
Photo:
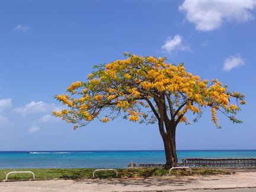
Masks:
[[[168,57],[244,93],[233,124],[208,110],[177,149],[256,149],[256,0],[0,1],[0,151],[164,149],[157,125],[121,118],[73,130],[53,97],[124,52]]]

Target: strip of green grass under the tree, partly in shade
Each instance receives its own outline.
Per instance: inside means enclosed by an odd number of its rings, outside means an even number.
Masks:
[[[36,179],[40,180],[52,180],[52,179],[82,179],[82,178],[92,178],[92,173],[95,168],[54,168],[54,169],[0,169],[0,180],[5,180],[8,172],[11,171],[31,171],[35,174]],[[142,168],[142,169],[116,169],[118,172],[118,178],[127,178],[127,177],[151,177],[151,176],[162,176],[169,175],[169,169],[164,168]],[[171,171],[171,174],[175,175],[187,175],[190,172],[185,170],[174,170]],[[219,169],[193,169],[192,174],[229,174],[228,171],[223,171]],[[95,178],[116,178],[115,171],[97,171],[95,172]],[[31,179],[33,178],[32,174],[28,173],[18,173],[18,174],[9,174],[8,180],[21,180],[21,179]]]

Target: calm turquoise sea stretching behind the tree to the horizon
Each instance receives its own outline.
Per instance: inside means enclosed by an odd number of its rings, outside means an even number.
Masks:
[[[183,158],[256,158],[256,150],[177,151]],[[164,164],[164,151],[10,151],[0,152],[0,169],[127,168],[130,162]]]

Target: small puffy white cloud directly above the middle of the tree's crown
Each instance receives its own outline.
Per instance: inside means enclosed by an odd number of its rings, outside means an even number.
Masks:
[[[167,37],[165,44],[162,46],[162,49],[164,50],[164,52],[167,52],[170,55],[172,55],[172,53],[180,50],[190,50],[190,47],[185,44],[183,36],[177,34],[174,36],[173,39],[172,37]]]

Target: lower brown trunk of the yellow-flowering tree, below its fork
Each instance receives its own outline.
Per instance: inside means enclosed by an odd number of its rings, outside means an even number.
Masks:
[[[166,166],[178,167],[178,158],[176,154],[175,135],[165,135],[162,137],[165,148]]]

